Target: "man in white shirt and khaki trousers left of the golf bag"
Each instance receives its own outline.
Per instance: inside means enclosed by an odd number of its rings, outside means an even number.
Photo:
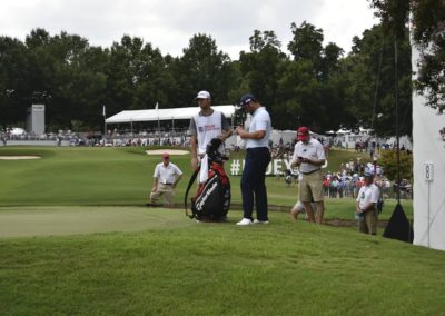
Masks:
[[[182,178],[182,171],[172,162],[170,155],[164,152],[162,162],[156,165],[154,186],[150,192],[150,203],[156,204],[164,196],[165,205],[174,207],[175,188]]]

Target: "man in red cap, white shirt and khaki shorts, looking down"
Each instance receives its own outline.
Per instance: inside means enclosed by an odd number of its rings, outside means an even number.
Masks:
[[[325,150],[317,139],[310,137],[309,128],[305,126],[298,128],[297,140],[291,165],[299,166],[298,197],[305,206],[307,219],[322,224],[325,213],[322,175],[322,166],[326,161]],[[312,201],[317,205],[316,217]]]

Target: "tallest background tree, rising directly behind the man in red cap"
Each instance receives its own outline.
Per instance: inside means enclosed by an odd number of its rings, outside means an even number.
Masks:
[[[345,88],[338,80],[343,49],[335,43],[324,48],[323,30],[307,22],[293,23],[291,32],[294,39],[287,47],[294,59],[286,63],[277,93],[280,126],[306,125],[318,132],[337,128],[344,117]]]

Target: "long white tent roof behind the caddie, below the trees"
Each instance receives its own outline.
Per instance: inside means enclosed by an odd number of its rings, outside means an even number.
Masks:
[[[235,113],[235,106],[233,105],[212,106],[211,108],[221,111],[226,116],[226,118],[231,118]],[[199,107],[121,111],[106,119],[106,122],[118,124],[118,122],[132,122],[132,121],[190,119],[198,112],[199,112]]]

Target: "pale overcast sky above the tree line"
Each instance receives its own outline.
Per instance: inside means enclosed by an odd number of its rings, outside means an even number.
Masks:
[[[254,30],[271,30],[287,52],[290,23],[323,29],[324,45],[350,51],[354,36],[378,23],[366,0],[0,0],[0,36],[24,40],[32,29],[67,31],[110,47],[123,34],[140,37],[162,55],[182,55],[194,34],[210,34],[238,59]]]

